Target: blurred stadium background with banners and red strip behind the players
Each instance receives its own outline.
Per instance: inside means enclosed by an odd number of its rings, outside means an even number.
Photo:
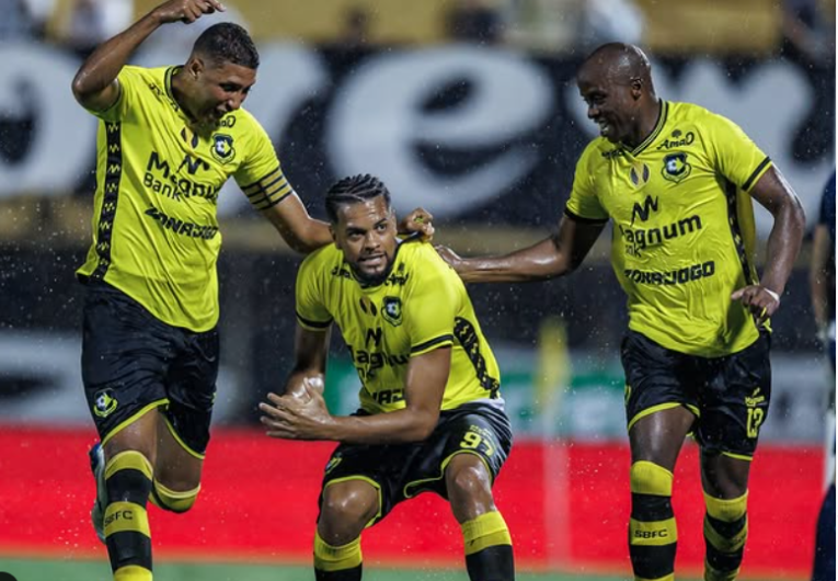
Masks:
[[[110,579],[88,522],[85,451],[95,434],[81,391],[72,275],[89,240],[95,121],[69,86],[91,47],[154,4],[0,1],[0,571],[19,580]],[[665,99],[741,124],[795,187],[810,231],[835,164],[834,0],[226,4],[226,14],[156,33],[134,61],[183,62],[200,30],[220,20],[252,31],[263,64],[246,106],[320,217],[335,178],[371,172],[395,192],[399,209],[431,209],[438,240],[463,253],[543,237],[596,129],[574,71],[592,46],[611,39],[648,50]],[[157,578],[311,579],[330,446],[268,441],[255,424],[256,402],[289,366],[299,259],[234,186],[219,213],[225,356],[216,432],[196,509],[152,516]],[[767,217],[759,216],[762,240]],[[567,280],[471,289],[515,422],[497,497],[524,580],[630,577],[617,360],[625,310],[606,246]],[[774,320],[774,395],[750,489],[749,579],[805,579],[812,560],[835,380],[816,340],[807,260],[808,243]],[[353,368],[340,349],[330,363],[330,407],[351,411]],[[691,445],[674,503],[678,570],[700,577]],[[365,534],[364,550],[366,579],[466,579],[459,529],[434,498],[398,509]]]

